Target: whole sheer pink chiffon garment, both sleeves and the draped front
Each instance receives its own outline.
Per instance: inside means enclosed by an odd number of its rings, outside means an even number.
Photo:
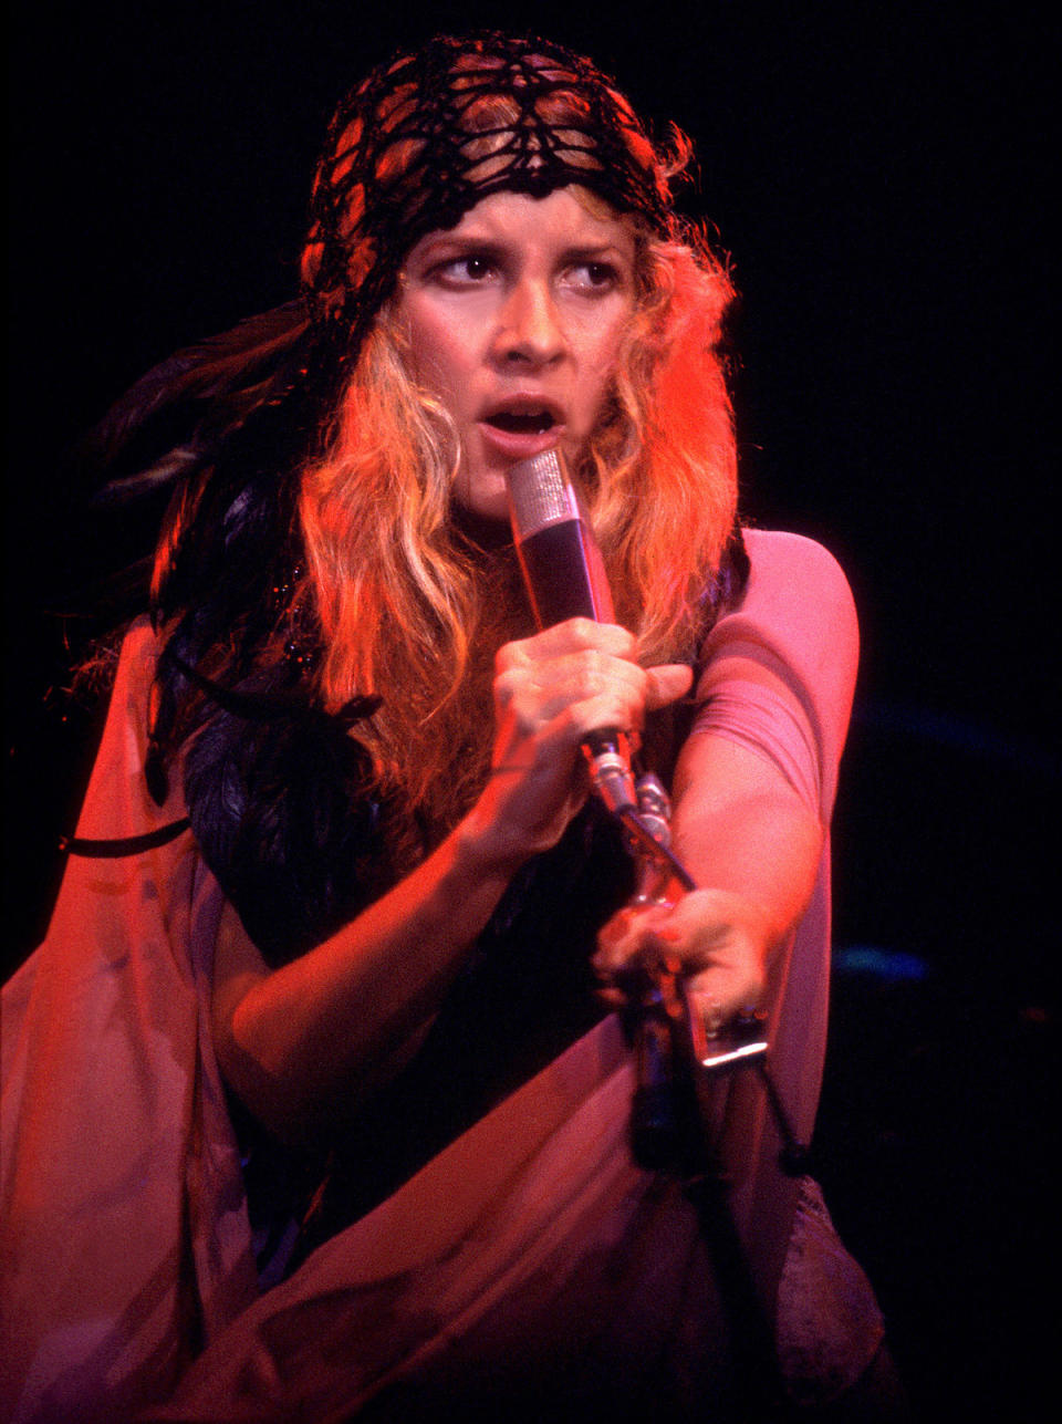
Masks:
[[[753,531],[749,551],[745,601],[705,649],[698,728],[769,758],[829,824],[851,600],[807,540]],[[134,625],[80,836],[184,815],[177,789],[158,807],[144,783],[155,654]],[[222,904],[189,832],[71,857],[44,944],[4,987],[4,1418],[742,1418],[747,1380],[696,1213],[629,1155],[615,1018],[259,1294],[209,1032]],[[827,984],[829,837],[770,994],[772,1071],[803,1136]],[[878,1347],[873,1293],[814,1183],[779,1171],[755,1078],[720,1084],[717,1112],[789,1387],[829,1398]]]

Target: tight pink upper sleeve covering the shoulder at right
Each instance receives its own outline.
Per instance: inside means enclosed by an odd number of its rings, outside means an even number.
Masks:
[[[809,538],[749,530],[746,544],[749,585],[705,645],[695,731],[773,762],[827,824],[858,658],[851,592]]]

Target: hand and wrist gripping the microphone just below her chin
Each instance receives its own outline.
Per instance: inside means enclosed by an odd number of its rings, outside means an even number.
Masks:
[[[491,772],[468,829],[512,867],[554,846],[589,790],[581,746],[592,732],[639,732],[645,713],[683,696],[685,664],[641,668],[615,624],[571,618],[498,649]]]

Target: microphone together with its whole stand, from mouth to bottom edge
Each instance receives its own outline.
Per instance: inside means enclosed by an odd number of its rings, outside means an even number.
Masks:
[[[518,461],[507,471],[505,486],[512,541],[538,627],[575,617],[611,621],[605,565],[561,451],[554,447]],[[596,793],[626,829],[636,866],[631,904],[673,904],[679,894],[696,889],[671,850],[668,793],[652,776],[633,783],[622,731],[598,733],[584,750]],[[747,1015],[727,1025],[726,1032],[709,1037],[689,1000],[682,965],[666,958],[653,970],[636,970],[621,988],[628,1000],[625,1018],[638,1071],[631,1119],[635,1161],[676,1175],[696,1209],[732,1317],[735,1350],[759,1405],[746,1418],[784,1417],[774,1333],[730,1210],[709,1102],[713,1077],[756,1065],[786,1143],[783,1168],[793,1175],[803,1171],[806,1151],[793,1138],[767,1075],[762,1022]]]

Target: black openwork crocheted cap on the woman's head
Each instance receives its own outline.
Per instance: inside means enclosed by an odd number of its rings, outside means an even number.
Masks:
[[[303,281],[320,335],[353,359],[399,268],[427,232],[503,189],[581,184],[673,229],[669,178],[689,145],[653,145],[589,60],[540,38],[440,36],[374,70],[332,120]]]

